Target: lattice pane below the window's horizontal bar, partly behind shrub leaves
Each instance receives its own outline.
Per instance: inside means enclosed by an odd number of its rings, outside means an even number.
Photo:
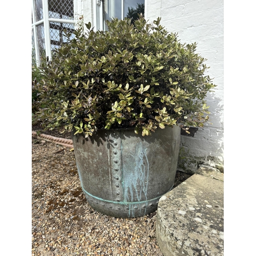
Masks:
[[[50,38],[51,38],[51,49],[57,49],[62,42],[67,42],[67,37],[63,30],[67,30],[67,32],[73,33],[74,31],[74,24],[68,23],[57,23],[57,22],[50,22]],[[71,35],[72,39],[74,38],[74,34]]]

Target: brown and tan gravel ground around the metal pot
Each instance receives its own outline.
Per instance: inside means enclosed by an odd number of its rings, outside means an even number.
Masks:
[[[177,172],[175,186],[188,177]],[[95,211],[82,193],[72,149],[32,138],[33,256],[162,256],[155,236],[156,214],[121,219]]]

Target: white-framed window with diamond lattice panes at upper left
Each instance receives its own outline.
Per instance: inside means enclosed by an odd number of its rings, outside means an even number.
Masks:
[[[64,29],[75,29],[73,0],[33,0],[32,4],[32,65],[42,56],[51,58],[52,51],[65,42]]]

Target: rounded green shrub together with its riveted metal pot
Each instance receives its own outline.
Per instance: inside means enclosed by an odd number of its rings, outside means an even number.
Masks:
[[[174,184],[180,127],[203,126],[205,97],[215,85],[196,44],[181,44],[160,18],[113,19],[106,32],[86,26],[42,65],[38,118],[46,129],[72,131],[94,209],[149,214]]]

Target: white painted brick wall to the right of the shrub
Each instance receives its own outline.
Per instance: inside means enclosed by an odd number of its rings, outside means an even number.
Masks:
[[[194,137],[181,136],[182,152],[187,160],[179,168],[194,171],[200,164],[222,170],[224,148],[224,3],[223,0],[145,0],[145,18],[178,32],[181,42],[197,42],[197,52],[207,59],[207,75],[217,84],[207,95],[210,121]]]

